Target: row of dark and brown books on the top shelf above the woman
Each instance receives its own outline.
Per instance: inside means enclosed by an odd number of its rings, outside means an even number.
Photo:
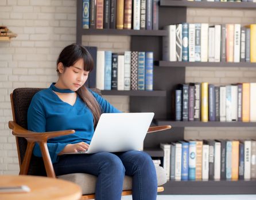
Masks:
[[[160,0],[83,0],[83,29],[158,30]]]

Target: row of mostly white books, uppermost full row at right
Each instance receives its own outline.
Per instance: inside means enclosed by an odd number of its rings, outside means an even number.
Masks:
[[[164,61],[256,62],[256,24],[180,23],[164,29]]]

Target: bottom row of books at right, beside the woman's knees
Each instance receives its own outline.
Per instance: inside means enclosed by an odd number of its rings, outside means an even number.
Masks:
[[[162,166],[175,181],[256,178],[256,141],[196,140],[161,143]],[[155,161],[155,163],[157,163]]]

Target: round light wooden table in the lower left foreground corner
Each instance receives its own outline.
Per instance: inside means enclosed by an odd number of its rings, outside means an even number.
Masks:
[[[1,187],[20,185],[30,187],[31,191],[29,193],[0,193],[0,199],[77,200],[82,197],[80,187],[69,181],[30,175],[0,175]]]

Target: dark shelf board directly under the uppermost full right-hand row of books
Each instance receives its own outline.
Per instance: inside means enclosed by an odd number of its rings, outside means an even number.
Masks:
[[[256,63],[253,63],[253,62],[170,62],[170,61],[157,61],[156,65],[158,65],[160,67],[256,67]]]

